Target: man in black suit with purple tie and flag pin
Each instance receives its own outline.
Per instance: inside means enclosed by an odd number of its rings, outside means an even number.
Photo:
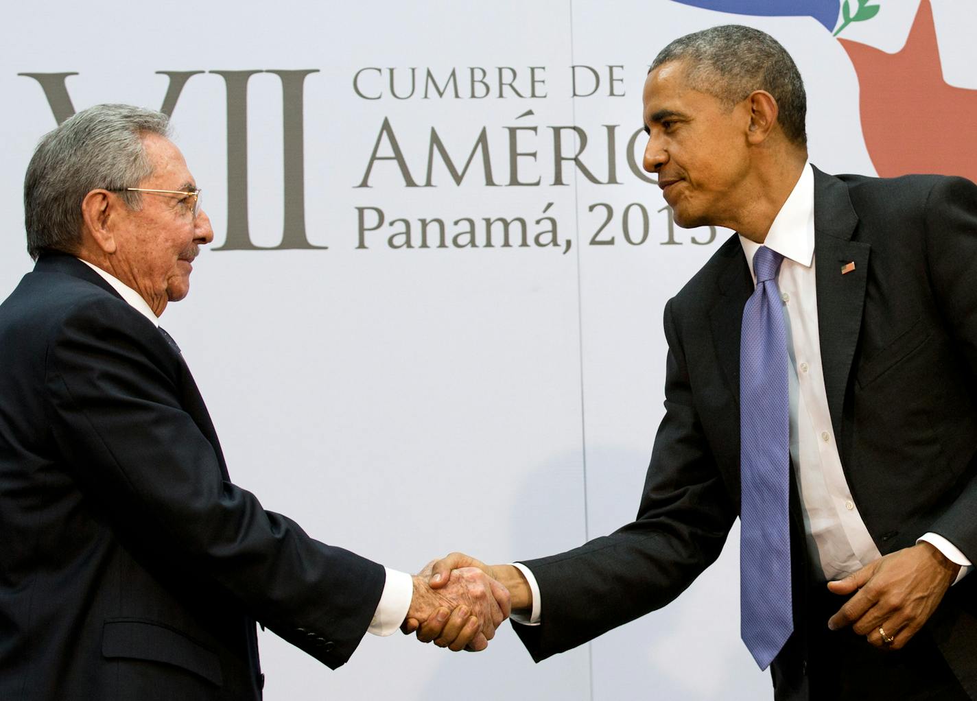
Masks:
[[[662,50],[645,169],[680,226],[737,235],[665,307],[638,516],[518,568],[435,572],[507,583],[541,660],[678,596],[740,516],[743,641],[778,699],[977,698],[977,186],[825,175],[805,111],[763,32]]]

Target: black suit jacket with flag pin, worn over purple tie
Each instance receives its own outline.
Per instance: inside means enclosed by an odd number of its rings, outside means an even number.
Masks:
[[[977,561],[977,186],[815,170],[815,261],[828,407],[875,544],[885,555],[934,531]],[[719,556],[740,510],[752,290],[734,235],[666,305],[665,416],[637,518],[526,560],[542,625],[516,628],[537,661],[663,606]],[[975,595],[970,575],[925,630],[977,698]]]

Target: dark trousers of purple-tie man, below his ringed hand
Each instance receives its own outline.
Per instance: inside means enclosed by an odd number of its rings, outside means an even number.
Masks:
[[[926,629],[880,650],[851,628],[828,630],[845,602],[824,584],[807,592],[802,626],[771,665],[777,701],[969,701]]]

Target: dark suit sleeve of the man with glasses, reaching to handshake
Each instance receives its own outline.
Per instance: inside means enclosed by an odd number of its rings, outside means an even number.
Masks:
[[[65,462],[144,555],[210,578],[251,616],[329,667],[353,654],[384,569],[310,538],[224,478],[181,405],[182,360],[114,299],[67,313],[45,358]]]

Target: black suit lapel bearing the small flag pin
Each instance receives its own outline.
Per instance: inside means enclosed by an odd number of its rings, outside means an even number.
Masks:
[[[858,216],[848,187],[814,169],[814,255],[818,288],[818,334],[825,372],[828,411],[836,440],[841,435],[841,410],[852,359],[862,328],[866,283],[869,279],[867,243],[852,241]],[[855,268],[842,274],[842,267]]]

